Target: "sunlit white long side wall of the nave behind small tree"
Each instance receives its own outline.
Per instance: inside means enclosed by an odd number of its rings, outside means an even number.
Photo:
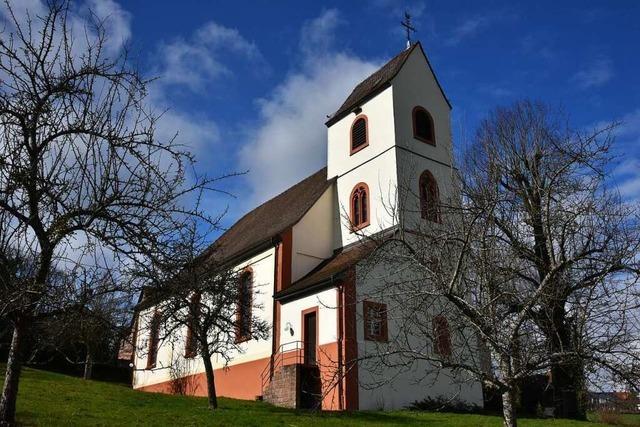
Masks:
[[[274,274],[275,274],[275,249],[269,249],[256,255],[250,259],[238,264],[235,268],[241,270],[251,267],[253,270],[253,292],[254,304],[259,311],[259,315],[271,325],[273,317],[273,292],[274,292]],[[143,387],[151,384],[162,383],[170,380],[170,369],[175,358],[184,359],[186,328],[176,331],[172,339],[165,340],[160,343],[158,348],[158,358],[156,368],[147,370],[147,348],[149,339],[149,330],[144,328],[148,325],[148,320],[153,314],[153,308],[149,308],[140,313],[139,322],[143,325],[137,337],[138,352],[134,357],[134,388]],[[233,331],[229,331],[234,333]],[[164,334],[161,332],[160,334]],[[271,355],[271,337],[263,340],[250,340],[242,344],[242,352],[232,353],[233,360],[229,366],[239,363],[249,362],[257,359],[268,358]],[[217,356],[212,359],[214,369],[224,367],[224,361]],[[190,359],[190,372],[192,374],[204,372],[204,365],[199,357]]]

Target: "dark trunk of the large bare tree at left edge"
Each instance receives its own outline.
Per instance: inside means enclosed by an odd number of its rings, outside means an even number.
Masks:
[[[20,372],[22,371],[22,352],[26,336],[25,330],[26,328],[20,323],[16,323],[13,329],[4,387],[0,398],[0,426],[15,425],[18,385],[20,383]]]

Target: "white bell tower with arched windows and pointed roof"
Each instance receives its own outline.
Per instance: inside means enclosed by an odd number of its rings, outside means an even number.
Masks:
[[[418,42],[358,84],[330,116],[336,248],[357,242],[360,233],[440,220],[438,201],[452,190],[450,111]]]

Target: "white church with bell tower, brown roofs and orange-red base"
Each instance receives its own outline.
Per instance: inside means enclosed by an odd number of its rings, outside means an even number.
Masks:
[[[410,44],[328,116],[326,167],[215,242],[246,274],[259,307],[248,309],[271,325],[268,339],[244,341],[228,365],[213,360],[219,396],[323,410],[397,409],[438,397],[482,406],[480,384],[453,372],[429,384],[404,373],[370,387],[374,373],[363,362],[396,332],[385,301],[368,294],[375,278],[361,274],[371,247],[363,236],[444,220],[438,204],[453,191],[450,113],[421,44]],[[400,188],[415,197],[400,197]],[[139,320],[152,315],[153,307],[138,312]],[[434,325],[442,340],[434,351],[451,352],[446,314]],[[169,367],[189,356],[185,347],[141,329],[135,348],[134,389],[170,392]],[[191,393],[206,395],[197,358],[189,375]]]

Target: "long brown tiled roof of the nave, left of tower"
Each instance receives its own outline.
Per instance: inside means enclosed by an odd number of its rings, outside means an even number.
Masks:
[[[320,169],[240,218],[205,256],[213,254],[216,261],[225,262],[268,244],[297,223],[332,183],[333,179],[327,180],[327,168]]]

